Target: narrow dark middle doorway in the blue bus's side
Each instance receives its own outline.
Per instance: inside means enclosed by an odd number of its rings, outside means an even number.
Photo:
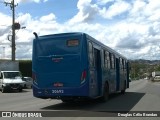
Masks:
[[[116,58],[116,91],[119,90],[120,87],[120,63],[119,59]]]

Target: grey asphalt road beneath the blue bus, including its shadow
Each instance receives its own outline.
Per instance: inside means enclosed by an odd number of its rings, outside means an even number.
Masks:
[[[24,89],[21,93],[17,91],[0,93],[0,111],[50,111],[48,114],[54,114],[54,118],[60,119],[61,117],[61,119],[65,120],[89,120],[97,119],[97,117],[105,120],[123,120],[126,118],[103,116],[117,116],[117,111],[149,111],[149,113],[151,111],[160,111],[160,82],[153,83],[148,80],[133,81],[124,95],[120,93],[112,94],[106,103],[100,103],[99,100],[63,103],[60,100],[38,99],[33,97],[31,89]],[[146,117],[136,117],[136,120],[142,118]],[[52,118],[48,117],[47,119]],[[134,119],[134,117],[129,117],[129,119]],[[159,118],[147,117],[147,119],[158,120]]]

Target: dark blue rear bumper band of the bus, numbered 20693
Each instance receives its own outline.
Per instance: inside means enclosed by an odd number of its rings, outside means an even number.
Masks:
[[[88,88],[86,86],[72,87],[72,88],[43,88],[40,89],[36,85],[33,85],[33,96],[42,99],[62,99],[71,97],[87,97]]]

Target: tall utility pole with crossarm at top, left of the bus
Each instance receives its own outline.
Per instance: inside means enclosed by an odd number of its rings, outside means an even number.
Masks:
[[[16,45],[15,45],[15,7],[17,5],[14,4],[14,0],[11,2],[4,2],[6,6],[10,6],[12,10],[12,61],[15,61],[15,50],[16,50]]]

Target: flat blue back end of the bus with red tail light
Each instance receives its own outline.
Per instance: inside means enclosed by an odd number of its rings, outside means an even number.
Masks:
[[[88,96],[86,51],[83,33],[63,33],[34,39],[33,95],[62,100]]]

